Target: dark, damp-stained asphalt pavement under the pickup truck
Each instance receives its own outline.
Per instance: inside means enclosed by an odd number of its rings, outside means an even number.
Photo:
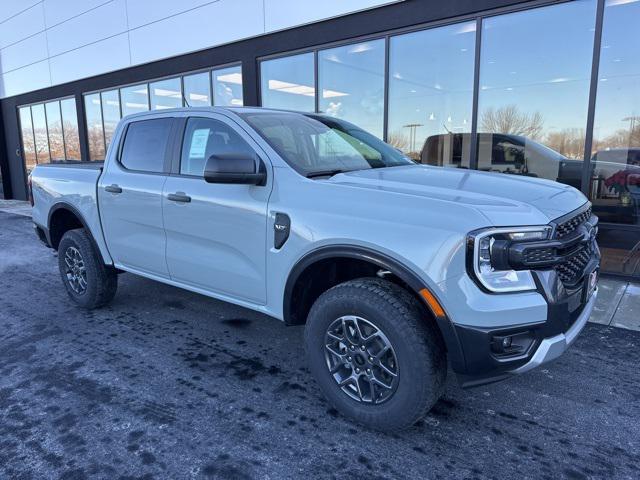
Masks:
[[[385,435],[331,409],[302,327],[123,274],[67,297],[0,212],[0,478],[640,478],[640,332],[589,324],[556,362],[446,393]]]

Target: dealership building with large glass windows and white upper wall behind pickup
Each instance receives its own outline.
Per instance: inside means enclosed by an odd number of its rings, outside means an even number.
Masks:
[[[581,189],[603,270],[640,278],[638,25],[640,0],[7,0],[0,198],[103,160],[130,113],[315,111],[422,163]]]

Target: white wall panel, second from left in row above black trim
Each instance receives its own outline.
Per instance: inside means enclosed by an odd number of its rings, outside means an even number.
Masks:
[[[49,59],[54,85],[129,66],[127,34],[102,40]]]

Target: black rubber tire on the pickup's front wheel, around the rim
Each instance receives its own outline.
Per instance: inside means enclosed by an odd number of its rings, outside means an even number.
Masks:
[[[329,342],[335,341],[333,337],[327,336],[327,330],[332,325],[340,325],[335,322],[345,316],[365,319],[365,327],[375,326],[384,334],[385,341],[390,342],[392,346],[394,357],[391,364],[395,364],[397,376],[391,377],[386,375],[386,372],[382,372],[391,379],[385,380],[385,383],[395,385],[394,389],[389,389],[392,393],[385,390],[387,387],[385,389],[372,387],[366,379],[362,380],[366,382],[362,383],[364,387],[371,388],[369,397],[378,395],[382,397],[383,393],[390,395],[381,400],[381,403],[368,399],[363,401],[359,392],[365,392],[366,388],[358,388],[358,394],[345,393],[343,388],[351,387],[340,387],[339,380],[336,380],[334,374],[329,371],[331,360],[327,359],[327,356],[332,359],[337,356],[332,356],[331,353],[325,354],[327,339]],[[309,313],[305,327],[305,346],[311,373],[329,402],[339,412],[357,423],[388,432],[408,428],[424,417],[442,396],[447,375],[446,351],[440,332],[431,319],[425,317],[425,312],[413,295],[383,279],[351,280],[324,292],[313,304]],[[341,324],[344,327],[345,323]],[[335,332],[335,330],[332,331]],[[366,336],[362,335],[360,338]],[[344,349],[341,343],[332,345],[337,345],[341,353],[348,353],[354,346],[349,342],[345,342],[350,346],[347,345]],[[372,349],[373,347],[367,346],[365,352]],[[356,347],[354,353],[357,352]],[[369,356],[365,353],[364,357],[369,360],[374,359],[372,363],[365,365],[370,367],[367,368],[367,374],[371,378],[370,372],[375,372],[374,362],[377,360],[374,354]],[[355,360],[352,356],[343,358]],[[360,357],[358,360],[366,361]],[[336,361],[336,368],[342,370],[339,365],[340,362]],[[345,363],[345,367],[346,365]],[[348,372],[355,374],[357,364],[349,362],[348,365],[349,368],[345,370],[347,374]],[[362,377],[359,378],[362,379]],[[378,393],[376,389],[383,392]],[[358,395],[360,399],[352,398]]]

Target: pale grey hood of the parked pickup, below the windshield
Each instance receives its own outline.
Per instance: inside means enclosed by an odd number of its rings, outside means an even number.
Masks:
[[[356,170],[328,182],[466,205],[490,226],[546,224],[587,201],[575,188],[550,180],[427,165]]]

